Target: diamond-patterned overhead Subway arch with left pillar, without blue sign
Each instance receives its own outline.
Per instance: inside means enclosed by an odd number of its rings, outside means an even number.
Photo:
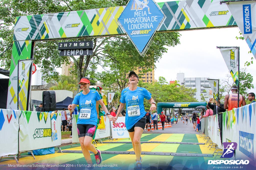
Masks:
[[[166,18],[157,27],[156,33],[237,27],[227,5],[221,5],[219,1],[184,0],[157,4]],[[17,82],[18,60],[33,58],[35,41],[126,35],[118,23],[124,9],[125,6],[119,6],[16,17],[7,109],[29,108],[31,70],[22,70],[26,78]]]

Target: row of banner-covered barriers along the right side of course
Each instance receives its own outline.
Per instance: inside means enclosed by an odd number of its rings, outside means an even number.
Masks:
[[[236,142],[236,158],[256,163],[256,102],[222,113],[222,142]],[[222,150],[218,115],[205,117],[204,133]],[[208,123],[208,125],[207,125]],[[208,133],[208,134],[207,134]]]

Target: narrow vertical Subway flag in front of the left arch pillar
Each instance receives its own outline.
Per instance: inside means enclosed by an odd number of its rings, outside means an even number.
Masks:
[[[18,110],[28,110],[27,109],[27,95],[28,95],[28,84],[30,84],[29,80],[29,70],[32,64],[32,60],[22,60],[18,62],[19,66],[19,108]]]

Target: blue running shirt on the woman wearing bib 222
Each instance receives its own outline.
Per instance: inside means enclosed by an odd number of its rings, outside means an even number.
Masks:
[[[97,111],[96,111],[96,101],[101,100],[98,91],[90,90],[87,95],[84,95],[82,91],[78,93],[72,102],[72,104],[79,104],[81,109],[91,109],[90,119],[80,119],[80,113],[78,115],[77,124],[90,124],[97,126]]]

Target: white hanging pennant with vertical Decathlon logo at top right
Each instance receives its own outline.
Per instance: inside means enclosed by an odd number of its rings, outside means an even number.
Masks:
[[[255,5],[255,1],[229,2],[227,4],[254,58],[256,58]]]

